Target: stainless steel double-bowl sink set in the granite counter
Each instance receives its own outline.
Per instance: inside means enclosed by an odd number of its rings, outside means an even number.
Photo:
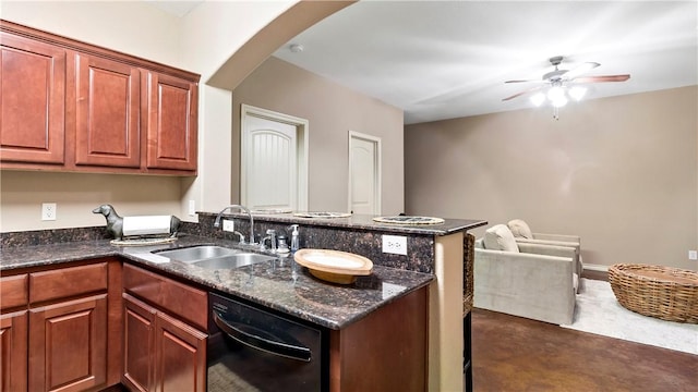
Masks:
[[[274,260],[274,257],[272,256],[242,252],[216,245],[201,245],[171,250],[155,250],[154,253],[171,260],[182,261],[207,269],[231,269]]]

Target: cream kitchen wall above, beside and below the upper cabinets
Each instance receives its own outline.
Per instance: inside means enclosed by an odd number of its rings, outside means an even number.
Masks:
[[[205,83],[296,2],[207,1],[179,19],[141,1],[2,1],[3,20],[196,72],[202,84],[196,179],[2,171],[0,231],[100,225],[104,221],[85,211],[101,203],[121,215],[172,213],[194,221],[186,216],[189,200],[205,211],[227,205],[231,91]],[[43,201],[59,204],[57,221],[40,221]]]

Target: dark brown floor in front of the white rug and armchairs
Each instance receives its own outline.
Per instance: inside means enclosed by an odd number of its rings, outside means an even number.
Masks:
[[[476,392],[698,391],[698,356],[474,309]]]

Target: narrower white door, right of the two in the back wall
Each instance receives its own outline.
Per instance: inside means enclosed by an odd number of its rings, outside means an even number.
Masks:
[[[349,210],[381,213],[381,138],[349,131]]]

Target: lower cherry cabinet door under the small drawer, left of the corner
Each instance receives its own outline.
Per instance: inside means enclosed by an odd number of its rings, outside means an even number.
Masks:
[[[29,310],[29,391],[106,383],[107,295]]]

